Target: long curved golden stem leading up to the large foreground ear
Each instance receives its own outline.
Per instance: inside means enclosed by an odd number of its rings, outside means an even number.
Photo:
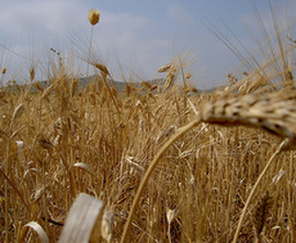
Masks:
[[[127,218],[127,221],[124,225],[124,231],[123,231],[123,236],[121,240],[121,243],[127,242],[127,232],[129,230],[130,223],[132,223],[132,219],[133,219],[133,215],[136,210],[138,200],[141,196],[141,193],[144,190],[145,185],[147,184],[153,169],[156,167],[156,165],[159,162],[159,159],[162,157],[162,154],[169,149],[169,147],[178,139],[180,138],[183,134],[185,134],[186,131],[191,130],[193,127],[197,126],[201,123],[201,117],[197,116],[197,118],[195,118],[193,121],[191,121],[190,124],[181,127],[158,151],[157,155],[155,157],[153,161],[151,162],[151,164],[149,165],[146,174],[144,175],[144,178],[140,182],[139,188],[135,195],[135,198],[133,200],[133,205],[130,207],[130,211]]]

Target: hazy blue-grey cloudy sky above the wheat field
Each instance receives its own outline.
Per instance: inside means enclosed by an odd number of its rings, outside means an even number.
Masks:
[[[39,67],[39,77],[46,78],[46,67],[55,58],[50,48],[67,59],[69,54],[86,59],[90,9],[101,13],[100,23],[93,28],[93,54],[117,80],[122,79],[122,70],[125,76],[155,78],[160,66],[180,55],[191,65],[186,70],[193,72],[197,88],[221,84],[227,73],[240,66],[240,60],[213,34],[210,26],[236,44],[242,54],[246,54],[243,48],[229,30],[252,53],[262,33],[255,9],[266,27],[272,26],[267,0],[0,2],[0,68],[7,67],[7,79],[25,77],[32,65]],[[295,0],[278,0],[274,7],[283,25],[295,22]],[[294,35],[296,38],[295,32]],[[73,67],[79,65],[76,61]],[[86,74],[83,68],[80,72]]]

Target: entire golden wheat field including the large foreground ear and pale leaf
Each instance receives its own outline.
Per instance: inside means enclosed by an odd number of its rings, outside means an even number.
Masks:
[[[0,241],[295,242],[296,44],[277,37],[212,92],[180,58],[123,90],[93,61],[83,88],[61,61],[2,85]]]

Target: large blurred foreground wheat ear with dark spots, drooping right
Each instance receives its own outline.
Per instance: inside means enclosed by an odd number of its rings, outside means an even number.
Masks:
[[[259,127],[286,139],[288,142],[283,149],[295,149],[296,103],[292,100],[295,94],[283,92],[275,92],[263,99],[254,94],[221,97],[203,105],[200,111],[202,121]]]

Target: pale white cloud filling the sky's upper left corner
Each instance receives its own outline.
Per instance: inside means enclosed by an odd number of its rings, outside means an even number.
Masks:
[[[81,22],[86,7],[79,1],[11,1],[2,4],[0,31],[7,35],[60,34],[67,24]]]

